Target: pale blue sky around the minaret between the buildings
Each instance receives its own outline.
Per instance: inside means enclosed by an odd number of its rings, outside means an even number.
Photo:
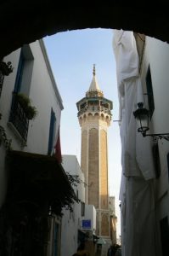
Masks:
[[[76,102],[85,96],[93,79],[93,64],[104,97],[113,102],[113,118],[108,130],[110,195],[115,195],[117,217],[121,181],[121,141],[118,122],[119,103],[116,85],[115,57],[111,29],[84,29],[59,32],[43,38],[54,78],[63,100],[60,122],[62,154],[75,154],[81,160],[81,128],[77,119]],[[120,232],[120,230],[118,230]]]

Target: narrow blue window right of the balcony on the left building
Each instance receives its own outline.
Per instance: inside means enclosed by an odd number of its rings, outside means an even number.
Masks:
[[[48,136],[48,154],[52,154],[54,151],[54,139],[55,139],[55,127],[56,127],[56,117],[53,108],[50,114],[50,127]]]

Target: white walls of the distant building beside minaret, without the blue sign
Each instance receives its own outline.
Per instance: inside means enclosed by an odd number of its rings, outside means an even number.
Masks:
[[[75,155],[62,155],[62,165],[65,172],[69,172],[71,175],[78,175],[78,177],[84,182],[84,174],[82,173],[81,167],[76,159]],[[74,186],[74,191],[78,190],[78,198],[85,202],[85,185],[79,183]],[[96,210],[93,206],[85,205],[85,216],[82,216],[82,205],[75,203],[73,205],[73,212],[69,210],[63,210],[62,217],[62,229],[61,229],[61,256],[71,256],[76,253],[78,247],[78,230],[82,230],[82,219],[92,220],[92,229],[96,229]]]

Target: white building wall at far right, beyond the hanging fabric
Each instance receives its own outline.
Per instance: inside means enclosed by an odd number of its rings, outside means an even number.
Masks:
[[[145,108],[150,121],[147,134],[169,133],[169,45],[155,38],[145,37],[140,78],[145,93]],[[169,137],[168,137],[169,140]],[[151,137],[155,180],[155,234],[158,255],[168,253],[169,241],[169,141]]]

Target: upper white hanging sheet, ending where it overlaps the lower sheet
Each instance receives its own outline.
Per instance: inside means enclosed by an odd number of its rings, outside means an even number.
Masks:
[[[138,76],[138,52],[133,32],[114,31],[113,49],[116,60],[117,86],[120,100],[121,130],[125,138],[121,139],[123,169],[127,177],[155,177],[152,150],[149,137],[138,133],[133,111],[138,102],[144,102],[141,80]],[[122,111],[125,114],[122,114]],[[146,150],[144,150],[146,148]]]

